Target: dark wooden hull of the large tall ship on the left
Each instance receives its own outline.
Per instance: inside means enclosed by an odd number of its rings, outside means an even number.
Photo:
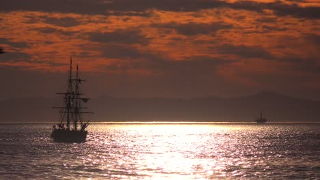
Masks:
[[[55,142],[85,142],[88,131],[55,129],[51,138]]]

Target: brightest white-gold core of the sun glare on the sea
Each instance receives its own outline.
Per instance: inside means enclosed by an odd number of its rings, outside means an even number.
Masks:
[[[120,164],[131,164],[138,175],[152,179],[207,179],[226,176],[228,125],[136,124],[111,125],[111,142],[122,146]],[[105,132],[104,132],[105,133]],[[122,134],[116,137],[117,134]],[[120,139],[116,139],[120,138]],[[99,143],[105,144],[106,139]],[[114,149],[113,149],[114,150]],[[118,162],[118,164],[119,164]]]

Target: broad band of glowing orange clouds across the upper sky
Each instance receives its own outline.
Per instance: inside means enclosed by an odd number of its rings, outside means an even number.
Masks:
[[[226,2],[230,5],[195,11],[110,10],[108,15],[1,12],[0,45],[8,54],[21,52],[28,58],[11,57],[0,65],[64,71],[72,55],[86,72],[156,76],[165,72],[155,69],[157,63],[206,59],[217,62],[217,74],[222,78],[251,86],[261,86],[263,81],[250,74],[311,76],[307,67],[306,72],[299,72],[293,66],[319,59],[318,18],[287,16],[272,8],[250,10],[232,6],[239,1]],[[319,6],[317,1],[281,2]]]

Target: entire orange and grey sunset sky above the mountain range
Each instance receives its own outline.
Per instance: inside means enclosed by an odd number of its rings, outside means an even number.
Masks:
[[[320,1],[10,0],[0,99],[53,97],[70,56],[90,97],[320,100]]]

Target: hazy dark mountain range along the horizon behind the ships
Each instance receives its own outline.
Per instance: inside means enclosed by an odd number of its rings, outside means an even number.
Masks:
[[[58,98],[58,97],[57,97]],[[55,122],[59,99],[29,97],[0,102],[0,122]],[[115,98],[88,102],[90,121],[213,121],[252,122],[260,111],[268,122],[319,122],[320,102],[261,92],[242,97]]]

